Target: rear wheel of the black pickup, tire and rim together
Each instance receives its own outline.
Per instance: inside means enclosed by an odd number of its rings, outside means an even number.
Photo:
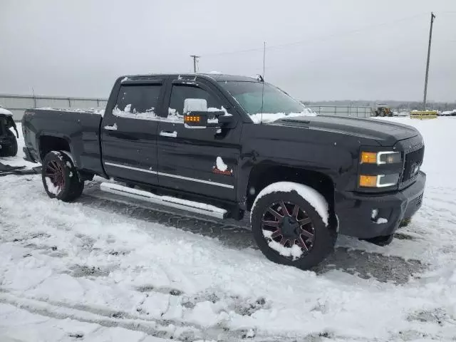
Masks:
[[[58,182],[58,190],[55,193],[51,192],[48,189],[46,182],[46,177],[49,177],[49,180],[55,180],[56,178],[50,177],[49,173],[52,168],[55,169],[58,167],[58,173],[61,177],[61,182]],[[61,151],[51,151],[48,152],[46,157],[43,160],[43,166],[41,167],[41,179],[43,180],[44,190],[51,198],[60,199],[63,202],[71,202],[81,196],[84,190],[84,181],[80,180],[78,170],[73,164],[71,157],[68,157],[66,153]],[[59,178],[60,180],[60,178]],[[53,183],[54,184],[54,183]],[[56,186],[56,184],[54,184]]]

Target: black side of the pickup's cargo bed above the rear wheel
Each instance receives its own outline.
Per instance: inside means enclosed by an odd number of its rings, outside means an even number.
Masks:
[[[100,123],[103,109],[33,108],[22,118],[22,130],[31,159],[41,162],[55,142],[67,142],[79,170],[103,175],[100,152]],[[46,148],[48,142],[49,149]],[[41,148],[40,148],[41,147]],[[40,153],[41,151],[41,153]],[[33,161],[32,160],[32,161]]]

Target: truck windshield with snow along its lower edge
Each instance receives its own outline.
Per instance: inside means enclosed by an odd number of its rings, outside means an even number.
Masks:
[[[264,83],[263,110],[261,111],[261,93],[263,83],[249,81],[219,81],[220,86],[225,88],[256,122],[263,113],[262,120],[274,121],[287,115],[309,115],[310,110],[304,107],[298,100],[291,98],[269,83]],[[259,119],[261,120],[261,119]]]

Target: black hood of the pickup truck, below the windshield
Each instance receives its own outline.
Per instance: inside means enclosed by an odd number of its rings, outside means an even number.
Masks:
[[[302,116],[282,118],[270,125],[286,125],[322,130],[376,140],[380,145],[393,146],[399,140],[420,133],[413,127],[380,119],[344,118],[340,116]]]

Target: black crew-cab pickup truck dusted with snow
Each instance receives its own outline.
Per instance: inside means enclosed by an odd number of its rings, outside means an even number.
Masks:
[[[250,212],[271,259],[307,269],[337,234],[388,244],[420,208],[423,138],[385,120],[316,116],[261,78],[118,78],[104,113],[26,110],[26,160],[50,197],[102,190],[220,219]]]

